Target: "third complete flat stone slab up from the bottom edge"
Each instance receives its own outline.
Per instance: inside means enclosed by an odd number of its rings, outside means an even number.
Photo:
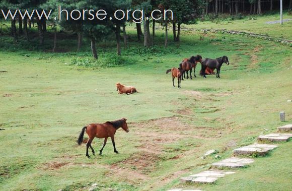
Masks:
[[[241,147],[238,149],[233,150],[233,154],[238,156],[238,155],[252,155],[252,154],[259,154],[259,155],[265,155],[267,154],[270,150],[273,150],[278,146],[276,145],[267,145],[267,144],[253,144],[245,147]]]

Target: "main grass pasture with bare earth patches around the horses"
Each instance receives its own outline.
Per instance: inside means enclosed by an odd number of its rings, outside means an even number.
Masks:
[[[134,31],[130,34],[135,38]],[[156,38],[163,40],[162,31]],[[113,49],[110,42],[99,53]],[[249,168],[213,185],[186,186],[178,180],[221,160],[214,155],[201,159],[207,150],[228,158],[233,149],[254,143],[261,133],[292,122],[292,107],[286,102],[292,95],[291,53],[291,48],[265,40],[200,32],[182,32],[181,42],[170,43],[167,51],[159,48],[154,54],[140,55],[122,51],[136,63],[116,68],[68,65],[72,58],[89,57],[89,52],[3,48],[0,190],[88,190],[93,183],[98,184],[96,190],[181,186],[291,190],[291,142],[279,144],[270,155],[256,158]],[[165,71],[196,54],[227,55],[231,65],[223,66],[221,79],[201,78],[198,65],[197,78],[183,81],[181,89],[172,87]],[[118,95],[116,82],[133,85],[139,93]],[[286,122],[279,121],[279,111],[286,112]],[[88,159],[86,144],[76,143],[83,126],[121,117],[128,118],[130,132],[117,131],[119,154],[109,141],[103,156],[90,153]],[[96,152],[102,142],[94,140]]]

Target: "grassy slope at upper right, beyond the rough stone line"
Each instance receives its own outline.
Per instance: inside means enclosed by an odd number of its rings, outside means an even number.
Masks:
[[[251,19],[252,18],[252,19]],[[283,14],[283,19],[291,19],[288,13]],[[196,29],[228,29],[245,32],[253,32],[257,34],[268,34],[271,37],[292,39],[291,24],[292,20],[284,22],[283,25],[266,24],[267,21],[278,21],[279,13],[265,16],[250,16],[241,20],[218,20],[217,23],[212,21],[198,21],[196,25],[183,25],[187,28]]]

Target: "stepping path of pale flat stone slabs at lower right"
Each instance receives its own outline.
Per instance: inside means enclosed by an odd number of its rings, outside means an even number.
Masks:
[[[292,131],[292,124],[286,124],[283,126],[278,127],[278,131]],[[288,141],[289,138],[292,137],[292,134],[268,134],[262,135],[258,137],[259,141]],[[259,154],[265,155],[269,151],[273,150],[278,146],[276,145],[267,145],[267,144],[253,144],[245,147],[241,147],[238,149],[233,150],[234,155],[252,155],[252,154]],[[212,151],[212,152],[211,152]],[[213,153],[213,150],[208,151],[206,154]],[[206,155],[207,156],[207,155]],[[250,158],[238,158],[238,157],[231,157],[228,159],[224,159],[219,162],[212,163],[212,167],[216,168],[240,168],[246,167],[249,164],[253,163],[254,159]],[[191,183],[213,183],[218,178],[224,177],[227,174],[233,174],[234,171],[225,171],[225,170],[215,170],[210,169],[198,174],[192,174],[186,177],[180,178],[182,182],[191,182]],[[189,189],[189,191],[199,191],[199,189]],[[170,189],[168,191],[187,191],[187,189]]]

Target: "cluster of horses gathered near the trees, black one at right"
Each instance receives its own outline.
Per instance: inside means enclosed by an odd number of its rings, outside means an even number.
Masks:
[[[229,60],[227,56],[218,57],[215,59],[205,58],[202,59],[201,55],[192,56],[189,59],[185,58],[179,64],[179,68],[172,68],[166,71],[166,74],[169,72],[172,73],[172,85],[174,85],[174,79],[177,78],[177,86],[181,88],[181,81],[189,78],[188,72],[190,71],[190,78],[192,79],[192,69],[194,69],[194,77],[196,78],[196,66],[197,63],[201,63],[200,75],[206,78],[206,74],[214,74],[213,71],[216,69],[216,78],[220,78],[220,70],[223,63],[229,65]],[[185,77],[187,74],[187,77]]]

